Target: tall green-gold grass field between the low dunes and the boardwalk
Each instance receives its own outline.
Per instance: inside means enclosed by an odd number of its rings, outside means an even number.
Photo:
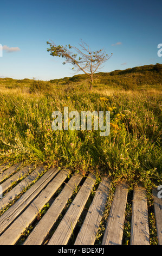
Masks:
[[[30,90],[31,91],[31,90]],[[18,92],[18,93],[17,93]],[[154,91],[105,90],[86,85],[1,91],[1,162],[33,160],[106,173],[129,184],[161,182],[161,95]],[[53,111],[110,111],[111,132],[53,131]]]

